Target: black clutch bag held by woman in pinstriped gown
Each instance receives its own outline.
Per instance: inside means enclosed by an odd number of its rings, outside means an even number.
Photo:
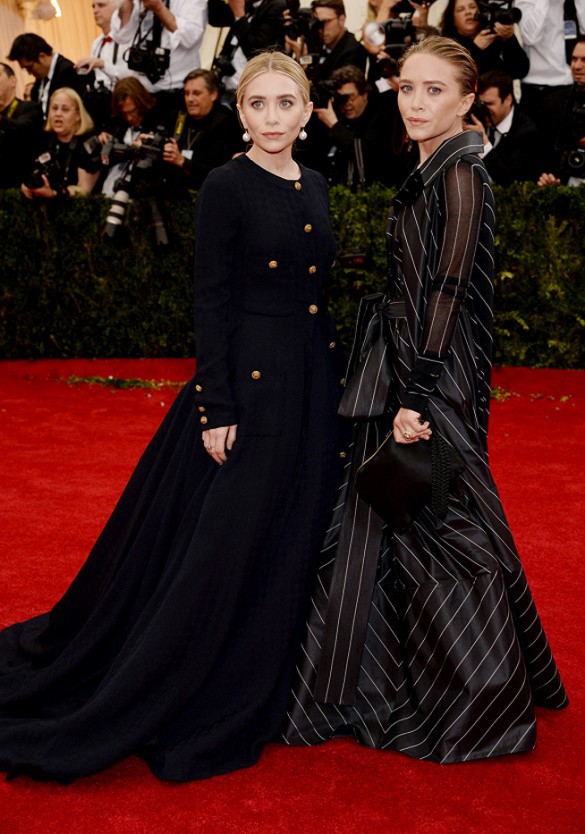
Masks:
[[[465,469],[453,447],[437,432],[430,440],[397,443],[390,432],[355,476],[359,497],[392,528],[402,532],[425,505],[443,518],[449,490]]]

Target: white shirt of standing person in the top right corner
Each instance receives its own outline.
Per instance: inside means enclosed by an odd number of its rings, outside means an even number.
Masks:
[[[557,87],[572,84],[565,56],[564,0],[516,0],[522,12],[518,24],[524,49],[530,58],[526,84]],[[585,31],[585,0],[575,0],[581,31]]]

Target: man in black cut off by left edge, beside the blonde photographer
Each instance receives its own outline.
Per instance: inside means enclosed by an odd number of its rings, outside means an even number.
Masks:
[[[40,104],[16,98],[12,67],[0,63],[0,188],[19,188],[38,153],[43,127]]]

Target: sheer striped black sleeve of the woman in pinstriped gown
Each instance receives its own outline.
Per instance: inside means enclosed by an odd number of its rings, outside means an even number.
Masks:
[[[402,405],[423,412],[443,371],[457,317],[467,293],[483,211],[483,183],[459,161],[445,175],[438,267],[425,310],[418,356]]]

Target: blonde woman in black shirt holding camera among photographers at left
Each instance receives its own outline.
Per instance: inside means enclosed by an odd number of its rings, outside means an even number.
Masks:
[[[45,148],[21,185],[27,199],[55,199],[89,194],[98,179],[99,162],[84,142],[93,131],[91,116],[75,90],[61,87],[51,96],[45,125]]]

